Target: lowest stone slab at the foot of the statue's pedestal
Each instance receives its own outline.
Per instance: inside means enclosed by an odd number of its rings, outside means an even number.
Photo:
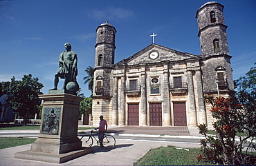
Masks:
[[[84,156],[85,154],[89,154],[93,152],[93,148],[84,148],[80,150],[75,150],[73,152],[68,152],[65,154],[50,154],[43,152],[35,152],[31,150],[27,150],[24,152],[15,153],[15,158],[26,159],[26,160],[39,160],[48,163],[64,163],[68,160],[73,160],[74,158],[78,158],[80,156]]]

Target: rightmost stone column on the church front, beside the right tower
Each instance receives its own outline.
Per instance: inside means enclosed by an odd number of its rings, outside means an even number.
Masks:
[[[206,112],[205,106],[203,103],[203,87],[202,87],[202,79],[201,79],[201,71],[196,70],[196,81],[197,81],[197,99],[198,99],[198,107],[199,107],[199,124],[207,124],[206,123]]]

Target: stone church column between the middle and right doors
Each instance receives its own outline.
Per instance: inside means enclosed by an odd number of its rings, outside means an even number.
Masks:
[[[168,65],[164,65],[163,68],[163,125],[171,125]]]

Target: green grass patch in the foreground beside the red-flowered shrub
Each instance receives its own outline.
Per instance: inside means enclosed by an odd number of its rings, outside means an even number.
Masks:
[[[134,165],[214,165],[212,163],[198,162],[199,148],[174,149],[174,146],[151,149]],[[215,164],[216,165],[216,164]]]

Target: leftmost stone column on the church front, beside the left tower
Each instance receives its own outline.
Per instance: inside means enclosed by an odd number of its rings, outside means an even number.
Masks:
[[[118,125],[118,77],[113,77],[112,125]]]

